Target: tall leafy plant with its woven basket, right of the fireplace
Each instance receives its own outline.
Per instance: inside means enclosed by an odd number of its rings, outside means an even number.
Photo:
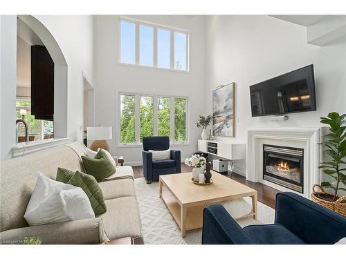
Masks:
[[[313,185],[311,199],[341,215],[346,216],[346,195],[340,197],[338,191],[346,191],[346,114],[329,113],[327,117],[321,117],[321,123],[330,126],[329,133],[324,136],[322,146],[325,147],[323,153],[331,160],[322,162],[318,168],[323,170],[325,175],[329,175],[333,182],[321,182],[320,185]],[[320,192],[315,191],[315,187],[320,188]],[[333,193],[325,192],[324,188],[332,189]]]

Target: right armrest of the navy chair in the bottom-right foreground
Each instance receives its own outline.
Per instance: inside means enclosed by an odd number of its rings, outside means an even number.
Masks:
[[[346,218],[295,193],[277,193],[275,223],[307,244],[334,244],[346,236]]]

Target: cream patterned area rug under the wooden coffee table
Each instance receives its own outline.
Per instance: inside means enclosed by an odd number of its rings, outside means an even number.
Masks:
[[[146,184],[144,178],[134,180],[139,204],[140,218],[143,225],[145,244],[201,244],[202,231],[188,231],[181,238],[179,226],[167,209],[165,203],[158,197],[158,182]],[[251,199],[245,199],[251,204]],[[258,220],[252,217],[237,220],[241,227],[251,224],[270,224],[274,222],[275,210],[258,202]]]

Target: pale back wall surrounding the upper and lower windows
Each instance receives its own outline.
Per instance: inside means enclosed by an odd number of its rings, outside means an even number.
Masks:
[[[180,149],[181,157],[197,151],[200,131],[195,123],[204,111],[204,17],[148,16],[132,17],[143,21],[189,30],[190,72],[139,68],[118,64],[118,22],[116,16],[95,17],[95,125],[113,127],[113,140],[109,141],[113,155],[124,155],[125,163],[141,164],[143,148],[116,147],[117,91],[183,95],[189,98],[189,139]]]

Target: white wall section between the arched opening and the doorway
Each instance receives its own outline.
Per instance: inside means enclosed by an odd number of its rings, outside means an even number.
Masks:
[[[82,73],[93,81],[93,17],[88,15],[35,16],[51,32],[67,63],[68,136],[82,141]]]

